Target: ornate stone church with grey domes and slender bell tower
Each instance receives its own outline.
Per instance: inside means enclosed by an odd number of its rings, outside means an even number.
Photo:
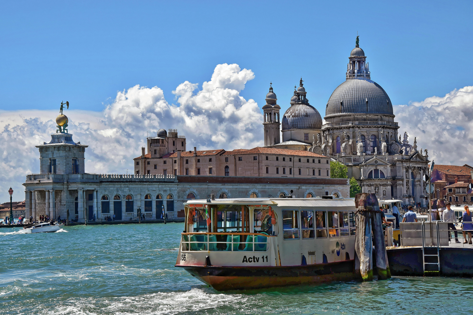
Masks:
[[[263,106],[265,145],[323,154],[345,164],[348,177],[357,179],[362,192],[375,193],[379,199],[425,205],[428,193],[422,178],[428,169],[427,149],[418,150],[415,137],[410,144],[409,135],[399,133],[391,100],[371,80],[366,59],[357,37],[346,80],[325,105],[323,125],[319,112],[308,102],[301,79],[283,115],[279,143],[272,135],[279,126],[280,106],[271,88]]]

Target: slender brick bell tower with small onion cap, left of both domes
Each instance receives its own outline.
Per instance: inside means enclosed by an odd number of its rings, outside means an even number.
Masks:
[[[276,145],[281,142],[279,110],[276,94],[270,83],[269,93],[266,94],[266,105],[263,106],[264,146]]]

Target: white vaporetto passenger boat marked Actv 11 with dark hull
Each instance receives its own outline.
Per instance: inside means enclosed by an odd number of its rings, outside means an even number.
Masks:
[[[324,198],[189,200],[175,266],[217,290],[351,280],[354,199]]]

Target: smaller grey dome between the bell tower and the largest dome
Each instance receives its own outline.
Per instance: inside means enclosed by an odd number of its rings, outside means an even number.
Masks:
[[[322,117],[308,104],[291,105],[282,117],[282,130],[320,128],[322,128]]]

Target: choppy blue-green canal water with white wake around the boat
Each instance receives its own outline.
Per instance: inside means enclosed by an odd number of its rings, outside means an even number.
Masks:
[[[220,293],[175,268],[183,223],[0,229],[0,314],[472,314],[473,280]]]

